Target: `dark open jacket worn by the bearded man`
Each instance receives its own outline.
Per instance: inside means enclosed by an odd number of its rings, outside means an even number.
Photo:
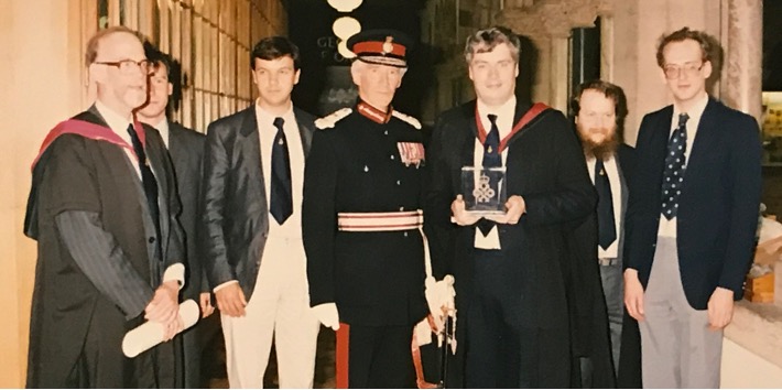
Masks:
[[[615,155],[621,187],[621,212],[619,224],[618,257],[621,259],[624,245],[624,213],[627,209],[627,178],[632,171],[632,148],[621,144]],[[611,188],[615,188],[611,183]],[[613,189],[616,191],[616,189]],[[568,243],[576,260],[571,268],[568,302],[572,305],[573,354],[576,358],[589,358],[591,372],[580,372],[578,360],[574,360],[573,387],[613,388],[616,386],[613,362],[608,331],[606,301],[600,284],[597,262],[597,216],[593,212],[572,235]]]

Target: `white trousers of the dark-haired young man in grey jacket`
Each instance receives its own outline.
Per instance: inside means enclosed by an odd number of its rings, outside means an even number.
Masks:
[[[221,319],[232,389],[263,388],[272,335],[280,388],[313,387],[321,323],[309,308],[301,240],[268,241],[245,317]]]

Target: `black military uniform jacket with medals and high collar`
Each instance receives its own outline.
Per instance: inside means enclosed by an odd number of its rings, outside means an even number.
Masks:
[[[411,325],[427,312],[417,230],[337,229],[338,213],[422,207],[423,165],[405,165],[398,150],[399,142],[422,142],[421,131],[411,124],[417,122],[397,115],[384,121],[355,109],[333,128],[316,131],[304,173],[302,228],[311,305],[335,302],[340,321],[351,325]]]

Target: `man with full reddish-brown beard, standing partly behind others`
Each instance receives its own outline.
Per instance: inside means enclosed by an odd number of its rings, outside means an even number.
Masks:
[[[594,217],[582,224],[573,236],[574,253],[578,258],[572,270],[576,272],[573,280],[580,283],[571,286],[577,313],[577,325],[573,327],[574,353],[579,358],[576,359],[579,367],[574,371],[579,372],[583,387],[612,387],[622,337],[622,227],[632,153],[622,142],[627,99],[620,87],[591,80],[578,86],[571,106],[589,177],[598,194]],[[599,296],[599,282],[605,302]],[[610,344],[606,339],[607,326]],[[610,345],[610,355],[606,345]]]

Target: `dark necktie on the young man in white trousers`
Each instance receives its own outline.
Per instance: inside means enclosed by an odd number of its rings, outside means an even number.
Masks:
[[[291,158],[287,154],[287,140],[282,126],[285,120],[274,118],[276,136],[272,145],[272,184],[270,212],[278,224],[285,223],[293,214],[293,195],[291,191]]]

